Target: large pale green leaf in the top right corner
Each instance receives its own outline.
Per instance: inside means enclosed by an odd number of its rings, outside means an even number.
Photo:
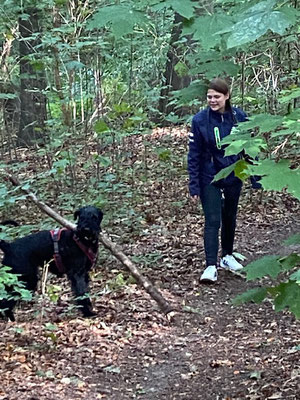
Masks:
[[[261,1],[242,14],[242,19],[232,27],[227,48],[254,42],[268,30],[283,35],[293,19],[285,12],[273,11],[275,3],[275,0]]]

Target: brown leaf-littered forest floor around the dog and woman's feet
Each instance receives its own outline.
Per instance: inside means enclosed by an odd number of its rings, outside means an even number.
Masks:
[[[275,313],[269,301],[232,306],[237,294],[267,280],[220,270],[216,284],[199,283],[203,216],[182,179],[171,189],[154,182],[144,234],[129,229],[118,242],[186,312],[168,319],[103,250],[91,282],[97,318],[65,313],[68,283],[51,278],[62,287],[57,304],[37,296],[19,306],[16,322],[0,322],[0,400],[300,398],[299,321]],[[246,186],[236,250],[247,263],[286,254],[282,242],[300,231],[299,217],[291,197]],[[105,228],[114,234],[114,222]]]

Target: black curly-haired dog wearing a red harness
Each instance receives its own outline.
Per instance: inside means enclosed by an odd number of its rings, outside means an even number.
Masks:
[[[12,272],[20,274],[26,289],[35,291],[39,278],[39,267],[50,261],[49,270],[62,276],[67,274],[71,281],[72,291],[76,297],[84,317],[94,316],[89,291],[89,270],[96,261],[98,236],[101,231],[103,213],[96,207],[82,207],[75,212],[78,218],[75,231],[61,229],[59,231],[41,231],[8,243],[0,241],[0,249],[4,252],[3,265],[11,267]],[[8,290],[10,290],[8,288]],[[0,309],[5,309],[5,316],[15,321],[13,309],[14,299],[0,301]]]

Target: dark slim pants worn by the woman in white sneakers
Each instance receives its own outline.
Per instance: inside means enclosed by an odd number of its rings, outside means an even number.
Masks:
[[[201,203],[205,216],[204,247],[206,266],[217,265],[219,230],[222,257],[233,252],[236,216],[242,183],[220,189],[214,185],[201,188]]]

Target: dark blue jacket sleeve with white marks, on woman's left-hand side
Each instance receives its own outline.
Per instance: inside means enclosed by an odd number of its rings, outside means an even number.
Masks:
[[[192,120],[189,132],[188,172],[191,196],[200,196],[200,163],[202,156],[202,140],[199,121]]]

